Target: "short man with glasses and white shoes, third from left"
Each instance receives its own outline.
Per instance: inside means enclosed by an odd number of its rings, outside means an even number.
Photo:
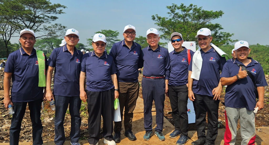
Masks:
[[[92,46],[94,51],[83,55],[80,72],[80,99],[88,103],[88,142],[90,145],[98,144],[102,115],[104,143],[116,145],[112,136],[114,100],[119,96],[116,68],[113,58],[104,53],[104,34],[95,34]]]

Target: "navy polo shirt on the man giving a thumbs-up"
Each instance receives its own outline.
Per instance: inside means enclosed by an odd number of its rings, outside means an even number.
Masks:
[[[248,57],[248,59],[251,59],[251,62],[247,66],[237,59],[235,61],[227,62],[221,71],[220,77],[229,78],[238,74],[239,66],[236,64],[238,63],[242,64],[250,71],[257,87],[267,86],[263,68],[260,63],[250,57]],[[233,84],[228,85],[225,91],[224,100],[226,107],[246,108],[247,110],[253,111],[256,106],[256,95],[255,86],[251,78],[247,76],[246,78],[242,78]]]

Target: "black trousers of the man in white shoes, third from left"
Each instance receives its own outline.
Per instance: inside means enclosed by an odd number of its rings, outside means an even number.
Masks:
[[[100,139],[101,115],[103,117],[103,136],[113,140],[114,89],[107,91],[86,91],[88,103],[89,144],[96,144]]]

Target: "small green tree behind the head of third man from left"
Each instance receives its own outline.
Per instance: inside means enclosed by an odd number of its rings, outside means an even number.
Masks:
[[[118,31],[112,31],[112,30],[101,30],[96,33],[101,33],[105,35],[105,39],[107,41],[107,45],[105,46],[105,49],[107,50],[107,53],[109,53],[112,45],[116,42],[121,41],[120,39],[118,39],[119,36],[119,32]],[[93,36],[92,36],[93,37]],[[91,42],[93,42],[93,39],[87,39],[87,43],[89,44],[88,46],[91,46]]]

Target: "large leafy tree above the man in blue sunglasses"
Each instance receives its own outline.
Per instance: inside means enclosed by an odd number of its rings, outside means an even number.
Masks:
[[[208,28],[211,33],[214,32],[212,33],[212,43],[216,46],[238,41],[230,38],[233,33],[219,32],[223,29],[219,23],[211,23],[212,20],[220,18],[224,14],[223,11],[206,11],[193,4],[189,6],[172,4],[166,8],[170,11],[167,13],[169,18],[161,17],[158,14],[151,16],[151,19],[156,22],[155,24],[161,27],[158,30],[164,33],[160,36],[161,39],[170,40],[171,33],[179,32],[185,41],[197,41],[195,38],[197,31],[201,28]]]

